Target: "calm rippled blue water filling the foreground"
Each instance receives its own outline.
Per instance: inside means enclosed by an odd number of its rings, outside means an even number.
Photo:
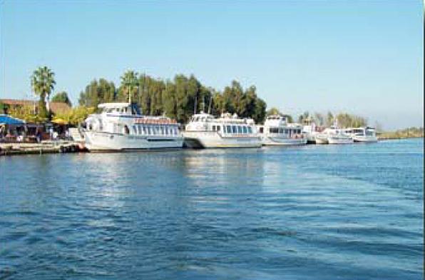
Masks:
[[[422,279],[424,142],[0,158],[0,279]]]

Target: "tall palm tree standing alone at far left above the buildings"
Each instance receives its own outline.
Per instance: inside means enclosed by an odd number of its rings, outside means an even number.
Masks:
[[[47,66],[39,67],[31,76],[31,87],[34,94],[40,96],[39,116],[46,118],[50,108],[48,106],[48,98],[53,91],[56,81],[55,74]]]

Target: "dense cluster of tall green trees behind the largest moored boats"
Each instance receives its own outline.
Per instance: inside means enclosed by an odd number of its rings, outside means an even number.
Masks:
[[[82,91],[78,103],[83,106],[97,106],[102,102],[128,101],[138,103],[145,115],[163,115],[185,123],[195,112],[210,111],[236,113],[242,118],[252,117],[262,122],[267,104],[257,97],[257,89],[250,86],[243,89],[239,82],[220,92],[204,86],[195,78],[179,74],[174,79],[163,81],[145,74],[127,71],[121,77],[121,85],[116,89],[112,81],[93,80]],[[196,108],[195,108],[196,106]]]

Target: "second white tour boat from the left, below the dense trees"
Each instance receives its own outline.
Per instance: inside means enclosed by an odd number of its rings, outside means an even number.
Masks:
[[[259,148],[261,139],[252,119],[240,119],[236,114],[194,114],[183,132],[188,148]]]

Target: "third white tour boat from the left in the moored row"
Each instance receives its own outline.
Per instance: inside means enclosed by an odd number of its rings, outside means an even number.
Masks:
[[[267,116],[264,125],[257,126],[263,145],[305,145],[307,136],[302,133],[302,126],[289,124],[286,116]]]

